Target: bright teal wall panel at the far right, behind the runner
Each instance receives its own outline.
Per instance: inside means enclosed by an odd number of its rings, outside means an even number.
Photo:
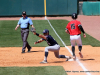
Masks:
[[[83,2],[83,15],[100,15],[100,2]]]

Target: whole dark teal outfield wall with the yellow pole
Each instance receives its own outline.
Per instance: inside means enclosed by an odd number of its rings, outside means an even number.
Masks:
[[[78,0],[0,0],[0,16],[20,16],[22,11],[32,16],[71,15],[78,13]]]

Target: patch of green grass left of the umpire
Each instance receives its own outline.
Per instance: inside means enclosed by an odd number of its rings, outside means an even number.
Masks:
[[[21,46],[20,29],[15,31],[17,21],[0,21],[0,47]]]

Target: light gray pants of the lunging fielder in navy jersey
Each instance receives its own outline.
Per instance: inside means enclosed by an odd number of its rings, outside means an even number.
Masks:
[[[59,58],[59,50],[60,50],[60,46],[57,44],[54,46],[48,46],[45,48],[45,52],[53,51],[57,58]]]

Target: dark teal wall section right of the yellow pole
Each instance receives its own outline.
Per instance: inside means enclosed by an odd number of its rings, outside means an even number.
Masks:
[[[77,12],[78,0],[47,0],[47,15],[71,15]]]

